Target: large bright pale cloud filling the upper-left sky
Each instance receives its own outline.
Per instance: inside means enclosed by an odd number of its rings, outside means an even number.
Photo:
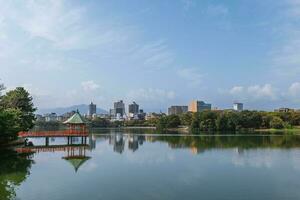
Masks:
[[[74,69],[87,64],[81,57],[119,57],[120,49],[136,43],[133,26],[111,18],[90,19],[82,4],[64,0],[0,0],[0,4],[0,49],[5,49],[0,51],[1,66]]]

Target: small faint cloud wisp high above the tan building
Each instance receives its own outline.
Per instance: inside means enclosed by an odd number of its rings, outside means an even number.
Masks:
[[[177,70],[177,75],[188,82],[189,86],[199,86],[203,75],[196,68],[182,68]]]

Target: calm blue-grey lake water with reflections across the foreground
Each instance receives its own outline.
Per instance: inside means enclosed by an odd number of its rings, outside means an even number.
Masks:
[[[300,136],[102,131],[0,151],[0,199],[300,199]],[[139,133],[139,135],[133,134]]]

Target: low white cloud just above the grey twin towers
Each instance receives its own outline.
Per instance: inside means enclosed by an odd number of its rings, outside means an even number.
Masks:
[[[143,101],[143,102],[162,102],[165,100],[170,100],[175,98],[175,92],[167,91],[163,89],[137,89],[132,90],[127,95],[128,99]]]

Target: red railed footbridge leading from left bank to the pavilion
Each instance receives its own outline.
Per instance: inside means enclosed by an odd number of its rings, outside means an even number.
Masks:
[[[61,131],[29,131],[19,132],[19,137],[87,137],[86,130],[61,130]]]

